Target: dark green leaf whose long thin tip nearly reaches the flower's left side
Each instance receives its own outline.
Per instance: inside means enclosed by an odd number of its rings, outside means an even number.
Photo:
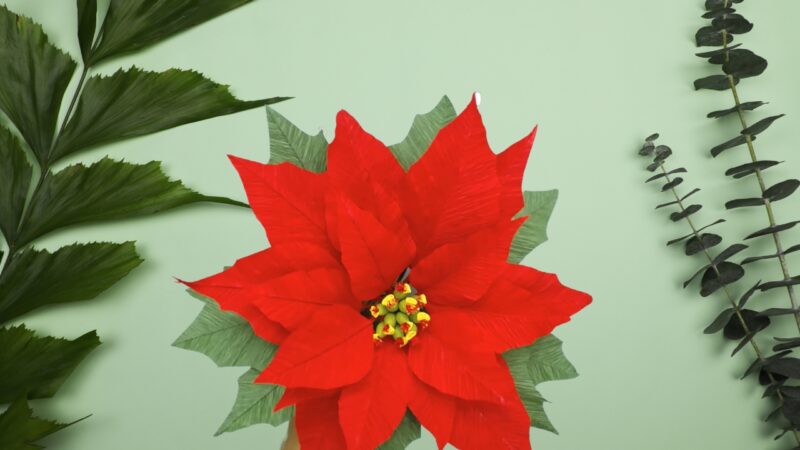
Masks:
[[[155,161],[138,165],[103,158],[88,167],[76,164],[45,179],[28,207],[20,245],[69,225],[155,214],[201,201],[243,205],[187,189],[167,178]]]

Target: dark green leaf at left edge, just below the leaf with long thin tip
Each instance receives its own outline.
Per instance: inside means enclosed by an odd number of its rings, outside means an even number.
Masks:
[[[25,249],[0,276],[0,324],[40,306],[92,299],[141,262],[133,242]]]

